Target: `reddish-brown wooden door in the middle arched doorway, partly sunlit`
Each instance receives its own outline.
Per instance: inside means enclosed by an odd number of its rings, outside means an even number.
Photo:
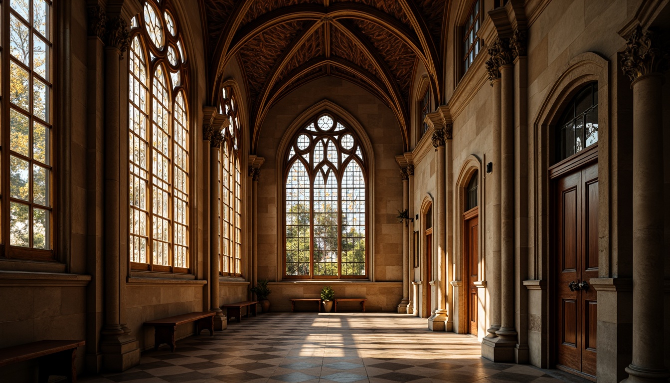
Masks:
[[[477,335],[478,294],[474,284],[479,280],[479,217],[477,209],[465,213],[464,260],[467,280],[468,333]]]

